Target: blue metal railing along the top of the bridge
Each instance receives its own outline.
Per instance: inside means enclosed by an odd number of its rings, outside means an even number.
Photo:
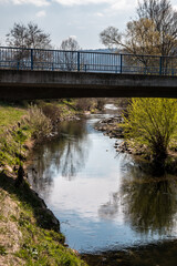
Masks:
[[[177,75],[177,57],[0,47],[0,69]]]

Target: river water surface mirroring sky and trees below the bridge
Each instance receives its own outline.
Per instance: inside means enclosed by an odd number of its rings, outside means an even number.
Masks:
[[[177,237],[177,178],[153,178],[118,154],[115,139],[94,130],[117,110],[63,122],[59,137],[38,146],[28,168],[32,187],[80,253],[123,250]],[[121,140],[119,140],[121,141]]]

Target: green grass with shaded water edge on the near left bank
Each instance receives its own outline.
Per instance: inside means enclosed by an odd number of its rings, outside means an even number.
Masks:
[[[9,217],[22,233],[20,250],[13,254],[15,257],[23,259],[25,266],[86,266],[72,249],[63,246],[64,236],[60,233],[60,225],[42,207],[28,183],[15,187],[14,180],[1,173],[0,186],[18,203],[18,215]],[[0,247],[0,254],[6,255],[4,247]]]

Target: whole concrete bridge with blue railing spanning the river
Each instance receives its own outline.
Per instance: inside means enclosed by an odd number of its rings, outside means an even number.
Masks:
[[[177,58],[0,47],[0,100],[177,98]]]

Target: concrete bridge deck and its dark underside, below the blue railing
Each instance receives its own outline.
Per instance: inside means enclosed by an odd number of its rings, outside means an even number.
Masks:
[[[0,100],[177,98],[177,76],[0,70]]]

